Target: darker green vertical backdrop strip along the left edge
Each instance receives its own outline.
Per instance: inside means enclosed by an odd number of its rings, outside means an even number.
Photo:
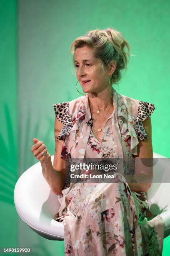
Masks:
[[[0,248],[17,247],[18,84],[16,1],[0,0]]]

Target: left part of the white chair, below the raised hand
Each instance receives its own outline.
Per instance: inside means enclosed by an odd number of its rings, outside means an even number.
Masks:
[[[53,156],[51,160],[53,162]],[[51,240],[63,240],[63,224],[53,219],[60,203],[42,175],[40,162],[18,179],[14,202],[20,218],[35,232]]]

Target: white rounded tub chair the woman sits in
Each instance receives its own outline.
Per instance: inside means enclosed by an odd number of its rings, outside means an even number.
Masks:
[[[161,178],[159,183],[153,183],[148,190],[148,203],[150,211],[160,214],[164,220],[165,238],[170,235],[170,184],[161,183],[161,180],[165,182],[165,177],[170,179],[170,165],[164,166],[164,156],[154,153],[154,158],[158,159],[154,166],[154,177],[161,174]],[[53,162],[53,156],[51,159]],[[64,240],[63,224],[53,219],[60,203],[42,175],[40,162],[31,166],[18,179],[14,202],[20,218],[37,234],[50,240]]]

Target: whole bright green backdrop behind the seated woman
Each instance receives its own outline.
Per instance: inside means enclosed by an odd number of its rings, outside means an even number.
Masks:
[[[0,0],[0,247],[64,255],[64,242],[42,238],[18,218],[13,189],[37,162],[30,152],[34,137],[54,154],[53,103],[80,96],[70,44],[88,30],[113,27],[130,44],[135,56],[115,89],[155,104],[153,151],[170,157],[169,8],[168,0]],[[170,254],[168,243],[170,236],[164,256]]]

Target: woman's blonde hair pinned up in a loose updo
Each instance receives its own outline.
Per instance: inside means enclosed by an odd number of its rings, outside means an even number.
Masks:
[[[77,48],[89,46],[94,50],[94,57],[102,64],[103,72],[110,67],[110,61],[116,61],[116,69],[111,76],[112,84],[117,84],[122,78],[121,70],[127,70],[130,54],[128,42],[122,34],[114,28],[88,31],[85,36],[77,37],[70,46],[70,53],[74,54]],[[128,51],[126,51],[126,48]]]

